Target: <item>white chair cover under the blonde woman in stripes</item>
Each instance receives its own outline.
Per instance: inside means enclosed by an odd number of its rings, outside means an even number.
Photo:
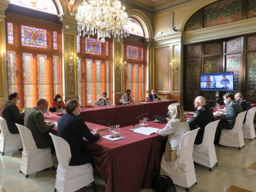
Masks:
[[[200,128],[198,128],[200,129]],[[192,153],[198,129],[186,132],[180,141],[180,157],[176,161],[161,161],[161,174],[168,175],[174,184],[189,188],[196,183]]]

